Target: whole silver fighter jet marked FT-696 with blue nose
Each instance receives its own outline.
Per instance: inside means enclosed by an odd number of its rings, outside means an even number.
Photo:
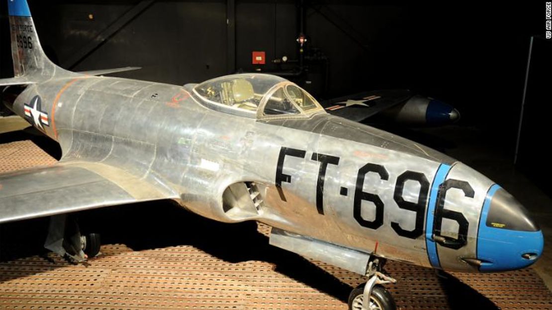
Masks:
[[[537,224],[495,182],[327,114],[284,78],[177,86],[70,72],[45,56],[26,1],[8,9],[15,77],[0,85],[25,86],[9,108],[62,157],[0,175],[0,222],[50,216],[45,245],[61,255],[82,260],[99,245],[65,214],[157,199],[221,222],[266,223],[270,244],[366,276],[350,309],[396,308],[382,286],[395,282],[388,259],[492,272],[542,254]]]

